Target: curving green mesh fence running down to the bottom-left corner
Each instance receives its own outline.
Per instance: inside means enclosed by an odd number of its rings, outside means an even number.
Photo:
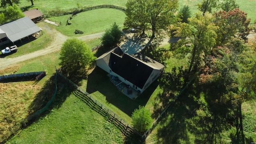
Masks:
[[[44,108],[30,114],[29,116],[24,118],[20,123],[17,123],[15,126],[10,128],[8,132],[6,132],[2,137],[0,137],[0,144],[4,144],[11,136],[16,134],[18,132],[18,130],[21,130],[22,128],[26,127],[28,122],[32,122],[35,118],[38,117],[38,115],[45,112],[49,108],[52,101],[54,100],[56,94],[57,94],[57,73],[55,76],[55,92],[52,95],[52,98],[49,100],[49,102],[47,102],[46,106],[44,106]]]

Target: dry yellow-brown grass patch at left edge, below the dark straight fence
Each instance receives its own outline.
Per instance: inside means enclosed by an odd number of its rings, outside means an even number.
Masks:
[[[0,137],[33,112],[30,108],[41,87],[33,82],[0,83]]]

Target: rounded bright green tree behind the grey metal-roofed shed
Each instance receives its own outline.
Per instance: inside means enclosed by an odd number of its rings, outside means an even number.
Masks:
[[[18,20],[19,18],[25,17],[25,14],[22,13],[16,4],[6,8],[6,15],[10,20]]]

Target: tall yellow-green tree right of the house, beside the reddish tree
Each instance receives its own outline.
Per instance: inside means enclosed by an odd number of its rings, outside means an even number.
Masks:
[[[213,17],[209,14],[189,18],[189,24],[177,24],[176,36],[182,39],[178,40],[178,45],[174,50],[175,53],[182,54],[182,56],[189,55],[190,66],[188,74],[190,74],[192,67],[197,69],[202,59],[207,57],[211,49],[215,45],[216,26],[212,23]]]

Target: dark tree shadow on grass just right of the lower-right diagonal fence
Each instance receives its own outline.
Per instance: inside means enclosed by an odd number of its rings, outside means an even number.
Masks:
[[[163,144],[190,144],[188,119],[196,116],[199,104],[184,92],[160,120],[157,137]]]

